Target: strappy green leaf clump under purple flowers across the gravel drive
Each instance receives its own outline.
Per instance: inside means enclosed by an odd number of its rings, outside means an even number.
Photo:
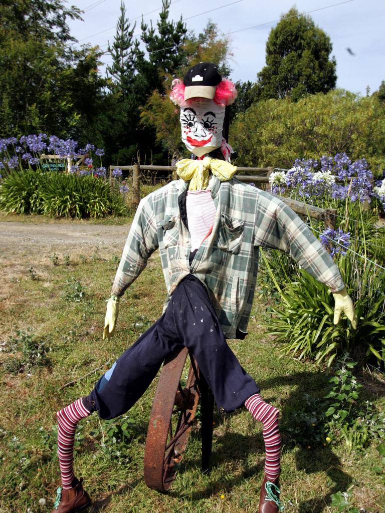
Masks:
[[[31,170],[5,177],[0,187],[0,208],[9,213],[77,219],[127,213],[122,194],[100,177]]]

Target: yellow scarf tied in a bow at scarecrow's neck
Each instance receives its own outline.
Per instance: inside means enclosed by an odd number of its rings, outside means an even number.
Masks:
[[[230,180],[237,170],[229,162],[219,159],[204,157],[203,160],[182,159],[177,162],[177,173],[184,180],[190,180],[188,186],[190,191],[204,190],[208,185],[209,171],[211,171],[221,182]]]

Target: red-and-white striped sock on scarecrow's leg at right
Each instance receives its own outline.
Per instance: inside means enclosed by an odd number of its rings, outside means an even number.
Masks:
[[[255,420],[262,422],[262,436],[265,443],[265,474],[276,479],[281,472],[281,435],[279,433],[279,410],[263,401],[256,393],[245,401],[245,406]]]

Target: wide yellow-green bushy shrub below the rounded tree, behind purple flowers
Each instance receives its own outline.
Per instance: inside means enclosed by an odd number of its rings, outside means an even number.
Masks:
[[[348,153],[367,158],[382,172],[385,152],[384,104],[376,96],[344,90],[285,100],[255,102],[237,115],[230,141],[238,165],[291,167],[299,158]]]

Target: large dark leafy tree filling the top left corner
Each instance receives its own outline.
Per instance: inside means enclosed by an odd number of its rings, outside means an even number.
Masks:
[[[0,5],[1,135],[44,131],[83,136],[103,94],[100,52],[74,50],[62,0],[7,0]]]

